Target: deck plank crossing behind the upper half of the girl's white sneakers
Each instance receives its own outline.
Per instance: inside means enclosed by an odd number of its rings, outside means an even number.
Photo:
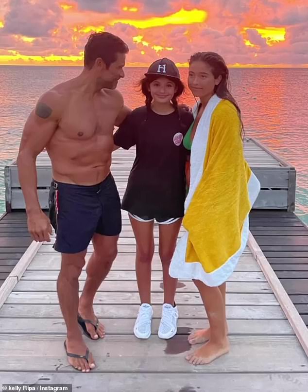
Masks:
[[[139,310],[139,305],[96,305],[97,317],[108,319],[134,319]],[[161,305],[153,305],[154,318],[161,317]],[[58,304],[4,304],[0,309],[0,317],[28,318],[59,318],[62,317]],[[284,320],[286,317],[279,306],[249,306],[249,305],[227,305],[226,316],[228,319],[262,319],[262,320]],[[181,319],[205,319],[203,305],[181,305],[179,307]]]

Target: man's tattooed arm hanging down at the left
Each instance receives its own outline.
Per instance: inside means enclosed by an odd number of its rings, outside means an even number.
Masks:
[[[28,229],[36,241],[49,241],[51,225],[42,212],[37,196],[36,157],[51,140],[58,125],[59,99],[47,92],[38,101],[23,129],[17,168],[20,186],[26,203]]]

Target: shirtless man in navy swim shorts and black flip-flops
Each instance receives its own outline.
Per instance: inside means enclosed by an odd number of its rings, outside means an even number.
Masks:
[[[57,292],[67,326],[68,362],[89,372],[95,362],[79,324],[91,339],[104,336],[94,310],[95,293],[117,255],[121,231],[120,197],[110,173],[114,125],[130,109],[123,105],[118,80],[124,77],[127,45],[109,33],[93,33],[85,46],[79,76],[43,94],[30,114],[17,158],[26,203],[28,229],[35,241],[50,242],[61,252]],[[35,160],[46,148],[51,159],[50,219],[40,208]],[[86,267],[79,299],[78,278],[92,240],[94,252]]]

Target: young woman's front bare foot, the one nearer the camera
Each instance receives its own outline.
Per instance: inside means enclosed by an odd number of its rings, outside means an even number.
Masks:
[[[214,359],[217,359],[220,356],[227,354],[229,350],[230,344],[227,337],[220,344],[214,343],[209,340],[206,344],[204,344],[194,353],[188,354],[188,356],[186,356],[186,359],[192,365],[207,365]]]

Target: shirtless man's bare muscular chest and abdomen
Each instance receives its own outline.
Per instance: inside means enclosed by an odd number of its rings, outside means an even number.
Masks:
[[[61,96],[63,108],[46,150],[55,180],[93,185],[103,181],[110,171],[119,93],[101,90],[91,96],[73,83],[68,81],[54,88]]]

